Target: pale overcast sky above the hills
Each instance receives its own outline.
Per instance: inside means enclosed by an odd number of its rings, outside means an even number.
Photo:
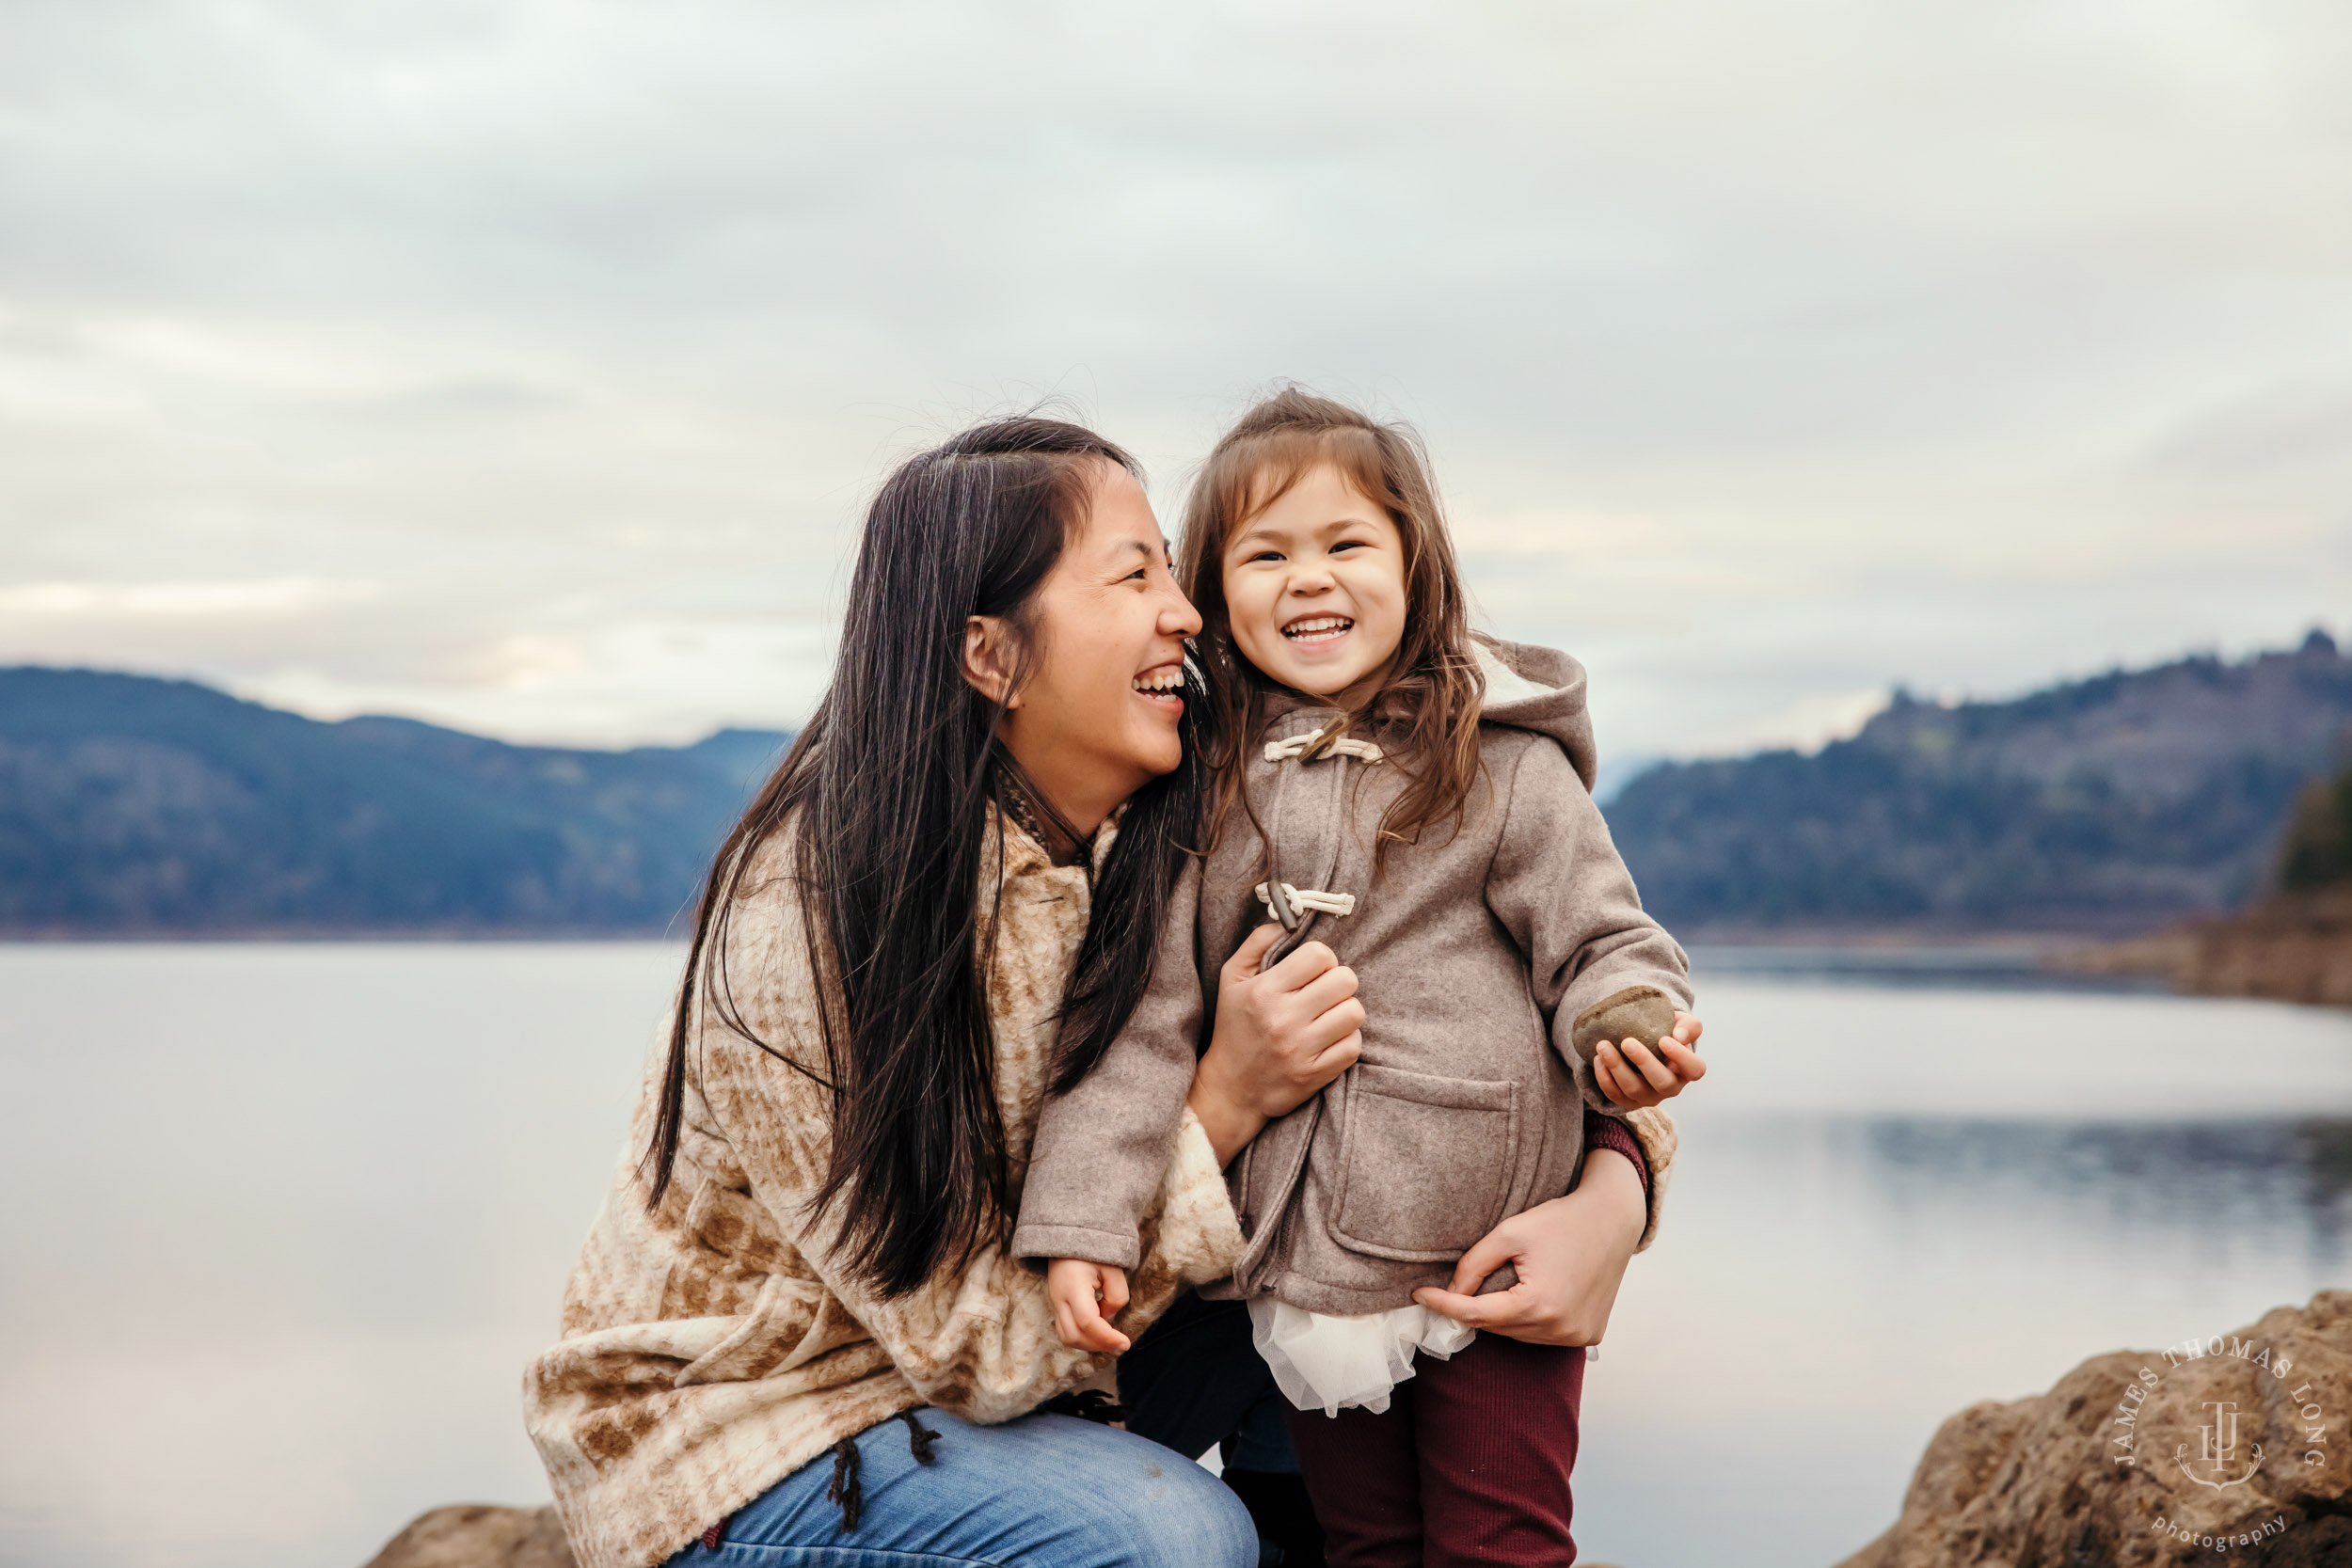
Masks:
[[[788,724],[896,456],[1277,376],[1616,755],[2352,632],[2352,12],[0,7],[0,661]]]

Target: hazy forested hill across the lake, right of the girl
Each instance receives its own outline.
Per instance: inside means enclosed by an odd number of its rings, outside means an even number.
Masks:
[[[1632,778],[1609,827],[1682,929],[2131,931],[2260,893],[2352,743],[2352,658],[2183,658],[2011,703],[1898,696],[1816,755]]]

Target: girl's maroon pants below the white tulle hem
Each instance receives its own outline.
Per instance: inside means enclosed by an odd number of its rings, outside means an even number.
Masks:
[[[1585,1352],[1482,1333],[1421,1356],[1388,1410],[1289,1410],[1331,1568],[1576,1561],[1569,1472]]]

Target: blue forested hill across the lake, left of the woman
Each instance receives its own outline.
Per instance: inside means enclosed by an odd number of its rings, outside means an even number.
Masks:
[[[786,738],[550,750],[0,670],[0,933],[663,931]]]

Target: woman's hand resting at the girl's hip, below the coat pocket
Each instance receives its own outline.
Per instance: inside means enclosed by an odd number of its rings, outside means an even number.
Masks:
[[[1454,1265],[1451,1291],[1421,1288],[1414,1300],[1529,1345],[1599,1345],[1644,1225],[1649,1197],[1632,1161],[1592,1150],[1576,1192],[1503,1220]],[[1505,1262],[1519,1284],[1472,1295]]]

